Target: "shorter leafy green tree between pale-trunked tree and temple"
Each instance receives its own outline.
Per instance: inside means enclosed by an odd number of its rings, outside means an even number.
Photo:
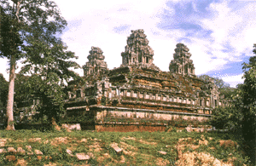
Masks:
[[[62,44],[62,43],[61,43]],[[60,47],[60,46],[58,46]],[[61,46],[63,47],[63,46]],[[55,49],[52,48],[52,51]],[[68,58],[74,57],[73,53],[59,54],[56,49],[54,54],[45,54],[44,58],[38,57],[40,63],[27,59],[20,73],[29,72],[32,76],[28,77],[23,89],[26,89],[26,96],[40,100],[35,107],[37,119],[47,117],[47,122],[55,125],[55,120],[59,119],[64,110],[64,100],[66,94],[64,92],[69,78],[79,79],[79,75],[69,70],[71,67],[79,67],[79,65]]]

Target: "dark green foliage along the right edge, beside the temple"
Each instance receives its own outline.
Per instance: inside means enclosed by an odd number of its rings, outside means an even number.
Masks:
[[[256,44],[253,45],[256,54]],[[232,127],[241,129],[244,144],[247,145],[247,155],[255,163],[256,153],[256,56],[243,63],[244,83],[238,84],[236,89],[223,89],[223,94],[230,94],[231,107],[217,108],[212,111],[212,125],[218,128]]]

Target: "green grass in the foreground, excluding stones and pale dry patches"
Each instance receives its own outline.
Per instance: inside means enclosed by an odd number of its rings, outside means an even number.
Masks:
[[[204,135],[207,145],[199,145]],[[56,138],[67,138],[66,141],[56,141]],[[16,159],[24,158],[27,165],[44,165],[46,163],[56,163],[57,165],[83,165],[85,161],[79,161],[76,157],[70,157],[66,150],[72,149],[73,154],[77,152],[92,153],[88,163],[90,165],[156,165],[162,160],[169,165],[175,165],[178,160],[177,144],[186,145],[183,149],[185,152],[206,152],[211,154],[218,160],[227,162],[229,157],[236,157],[234,165],[242,165],[247,163],[247,157],[242,152],[241,146],[224,148],[219,145],[219,140],[234,140],[240,145],[239,137],[231,134],[219,133],[188,133],[188,132],[92,132],[92,131],[73,131],[68,132],[40,132],[38,130],[16,130],[16,131],[0,131],[0,139],[10,138],[5,146],[0,148],[7,149],[10,146],[17,148],[21,146],[32,146],[32,149],[38,149],[44,153],[43,159],[38,160],[36,155],[19,156]],[[41,138],[40,141],[30,141],[33,138]],[[126,139],[125,139],[126,138]],[[130,138],[130,139],[129,139]],[[178,139],[191,138],[192,140],[183,140],[178,143]],[[211,140],[210,140],[211,138]],[[86,139],[86,142],[80,140]],[[22,140],[22,141],[19,141]],[[65,140],[65,139],[64,139]],[[116,154],[109,146],[111,143],[118,143],[123,149],[121,154]],[[125,146],[124,146],[125,145]],[[200,146],[197,149],[191,148],[189,145]],[[214,147],[212,149],[211,147]],[[159,151],[166,152],[162,155]],[[104,155],[110,157],[104,157]],[[0,154],[0,163],[5,165],[15,165],[15,162],[9,162],[5,157],[9,153]],[[51,159],[45,159],[45,157]],[[121,162],[125,158],[125,162]]]

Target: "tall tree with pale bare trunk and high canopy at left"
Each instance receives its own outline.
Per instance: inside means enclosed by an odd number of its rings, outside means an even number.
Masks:
[[[54,2],[49,0],[0,0],[0,6],[0,53],[2,57],[7,57],[10,61],[7,129],[14,130],[13,103],[16,60],[26,58],[28,63],[35,64],[33,70],[34,73],[37,73],[39,66],[46,66],[50,64],[50,61],[55,60],[55,58],[50,58],[53,57],[51,54],[55,54],[63,60],[73,58],[74,55],[72,52],[66,51],[67,47],[61,42],[61,38],[57,37],[67,26],[67,21],[61,17]],[[45,63],[45,57],[49,57],[48,63]],[[66,64],[60,65],[65,66]],[[51,68],[54,67],[48,67],[48,69]],[[47,76],[51,77],[50,74]],[[65,76],[65,78],[67,77]]]

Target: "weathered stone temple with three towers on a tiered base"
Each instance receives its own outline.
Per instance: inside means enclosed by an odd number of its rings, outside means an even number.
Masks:
[[[217,86],[195,76],[186,45],[177,43],[174,51],[170,72],[160,71],[144,31],[131,31],[122,64],[109,70],[102,49],[91,47],[84,80],[69,83],[67,117],[87,117],[97,130],[113,124],[211,117],[214,107],[225,106]]]

